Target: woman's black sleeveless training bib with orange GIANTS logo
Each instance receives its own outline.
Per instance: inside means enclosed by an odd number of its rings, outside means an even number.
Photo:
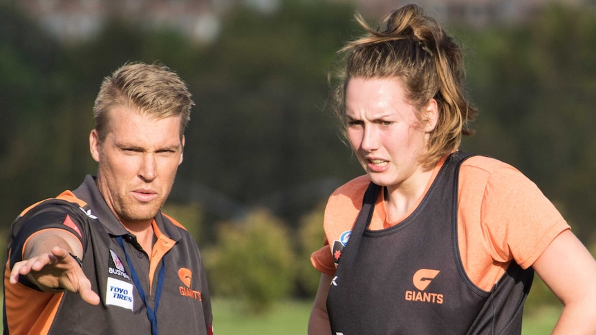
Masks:
[[[467,157],[450,155],[418,208],[388,229],[366,229],[381,190],[371,183],[330,286],[333,335],[520,334],[532,269],[512,261],[487,292],[460,260],[458,174]]]

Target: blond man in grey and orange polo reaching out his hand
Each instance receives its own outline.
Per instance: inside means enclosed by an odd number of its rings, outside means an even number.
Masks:
[[[165,66],[106,77],[89,135],[97,177],[23,211],[8,237],[8,334],[212,334],[201,254],[160,212],[193,105]]]

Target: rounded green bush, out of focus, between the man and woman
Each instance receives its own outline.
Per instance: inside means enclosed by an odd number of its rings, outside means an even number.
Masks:
[[[219,224],[216,245],[203,254],[209,290],[240,298],[248,312],[266,312],[290,296],[295,251],[284,223],[266,210]]]

